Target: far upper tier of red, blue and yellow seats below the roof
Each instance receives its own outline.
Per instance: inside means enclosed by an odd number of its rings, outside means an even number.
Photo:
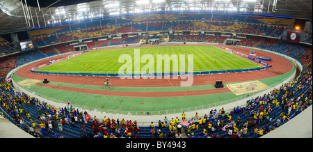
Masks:
[[[167,22],[163,22],[165,19]],[[206,22],[202,22],[205,19]],[[219,31],[236,33],[254,33],[256,35],[279,37],[283,27],[287,26],[284,19],[268,19],[264,17],[247,17],[241,15],[148,15],[146,17],[127,17],[125,20],[95,20],[93,22],[77,23],[29,31],[40,46],[53,43],[64,43],[81,38],[96,38],[112,33],[129,33],[141,31]],[[130,22],[132,20],[133,22]],[[153,21],[150,24],[141,22]],[[125,24],[127,23],[127,24]],[[248,23],[248,24],[247,24]],[[109,25],[108,25],[109,24]],[[256,25],[258,24],[258,25]],[[151,26],[150,26],[151,25]],[[158,26],[156,26],[158,25]],[[42,37],[43,36],[43,37]],[[309,39],[310,40],[310,39]],[[311,39],[312,40],[312,39]]]

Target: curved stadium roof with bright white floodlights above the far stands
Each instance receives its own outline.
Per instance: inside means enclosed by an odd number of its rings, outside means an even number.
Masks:
[[[0,0],[0,33],[104,16],[188,12],[312,20],[312,0]]]

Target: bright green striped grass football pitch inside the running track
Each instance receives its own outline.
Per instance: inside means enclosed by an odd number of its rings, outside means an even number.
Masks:
[[[180,49],[179,49],[180,48]],[[157,61],[157,54],[185,54],[185,70],[188,67],[188,54],[193,54],[193,71],[211,71],[211,70],[236,70],[246,68],[261,67],[257,63],[249,61],[241,56],[230,54],[218,47],[213,46],[162,46],[162,47],[128,47],[117,48],[112,50],[98,50],[81,54],[72,59],[60,61],[50,66],[38,69],[37,71],[58,72],[58,73],[118,73],[118,70],[125,63],[119,63],[118,59],[122,54],[129,54],[132,62],[132,72],[135,71],[134,66],[134,49],[140,49],[140,55],[151,54],[154,57],[154,73],[160,71],[157,69],[157,64],[162,63],[161,71],[164,71],[164,61]],[[186,52],[185,52],[186,50]],[[216,60],[216,61],[215,61]],[[152,62],[152,61],[151,61]],[[172,69],[172,64],[175,62],[170,59],[170,72],[176,72]],[[179,65],[179,58],[177,61]],[[153,63],[153,62],[152,62]],[[147,63],[140,63],[140,68]],[[126,69],[125,69],[126,73]],[[151,73],[151,70],[150,70]]]

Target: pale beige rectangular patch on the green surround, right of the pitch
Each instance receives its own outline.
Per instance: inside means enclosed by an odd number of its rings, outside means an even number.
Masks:
[[[251,93],[263,89],[268,89],[269,86],[259,82],[259,81],[252,81],[252,82],[243,82],[238,84],[229,84],[227,87],[236,95]]]

